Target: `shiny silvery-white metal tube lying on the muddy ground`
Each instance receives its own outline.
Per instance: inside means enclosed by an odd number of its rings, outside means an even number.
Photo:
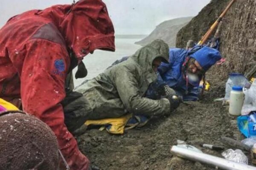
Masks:
[[[181,158],[210,164],[223,170],[256,170],[256,167],[247,164],[240,164],[217,156],[208,155],[206,153],[198,153],[182,147],[173,146],[171,152]]]

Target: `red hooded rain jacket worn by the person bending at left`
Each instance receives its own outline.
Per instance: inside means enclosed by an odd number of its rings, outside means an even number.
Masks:
[[[102,0],[79,0],[26,11],[0,29],[0,98],[46,122],[71,170],[89,161],[64,124],[67,74],[96,49],[115,51],[114,28]],[[75,57],[70,57],[73,53]]]

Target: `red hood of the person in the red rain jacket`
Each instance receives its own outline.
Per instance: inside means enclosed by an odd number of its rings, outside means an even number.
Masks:
[[[114,28],[102,0],[79,0],[73,5],[56,5],[37,13],[50,19],[78,59],[90,51],[115,51]]]

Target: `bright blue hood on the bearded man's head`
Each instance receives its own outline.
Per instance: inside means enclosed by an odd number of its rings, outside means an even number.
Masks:
[[[218,50],[209,47],[203,47],[195,53],[191,54],[190,57],[195,60],[207,71],[212,65],[221,59],[221,54]]]

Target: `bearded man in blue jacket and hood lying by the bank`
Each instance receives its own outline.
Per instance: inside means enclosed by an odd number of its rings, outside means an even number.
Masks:
[[[220,59],[220,52],[207,46],[195,46],[190,50],[170,48],[169,63],[161,63],[158,68],[158,85],[168,85],[178,95],[183,96],[184,101],[197,100],[201,79],[204,79],[205,72]]]

